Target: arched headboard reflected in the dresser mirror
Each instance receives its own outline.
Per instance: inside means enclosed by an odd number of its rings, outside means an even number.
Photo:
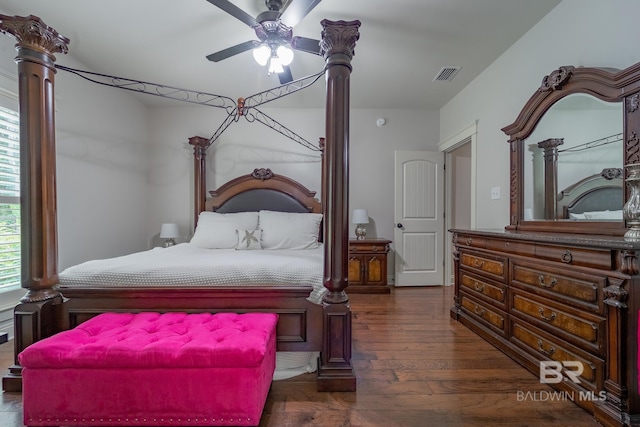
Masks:
[[[567,187],[558,195],[558,217],[571,214],[618,211],[624,205],[622,169],[604,169]]]

